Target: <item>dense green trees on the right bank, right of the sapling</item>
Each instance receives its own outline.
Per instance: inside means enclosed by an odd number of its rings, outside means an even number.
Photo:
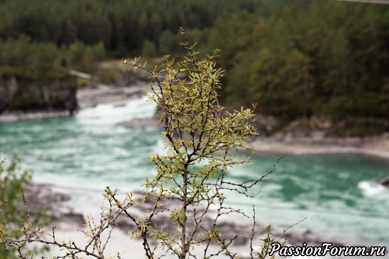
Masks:
[[[268,16],[259,13],[212,28],[209,42],[227,52],[221,63],[231,70],[227,104],[250,104],[254,96],[261,112],[289,120],[389,119],[388,6],[285,1]]]

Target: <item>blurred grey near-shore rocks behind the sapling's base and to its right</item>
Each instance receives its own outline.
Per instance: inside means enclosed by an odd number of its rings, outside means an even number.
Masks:
[[[138,197],[138,200],[142,199],[142,193],[134,192],[135,197]],[[170,218],[170,212],[174,210],[174,208],[180,207],[181,202],[177,199],[167,199],[160,201],[162,206],[164,206],[163,212],[157,213],[154,215],[151,225],[156,224],[158,229],[162,228],[164,230],[169,229],[172,234],[179,234],[181,229],[172,224],[172,219]],[[131,212],[135,213],[135,215],[139,215],[140,217],[144,217],[144,211],[150,211],[154,205],[154,202],[149,197],[144,200],[143,203],[138,203],[134,207],[132,207]],[[195,227],[195,222],[193,221],[193,209],[196,209],[197,219],[199,215],[201,215],[202,207],[201,205],[196,207],[188,208],[188,215],[190,215],[190,220],[187,222],[186,229],[188,232],[193,230]],[[161,209],[162,210],[162,209]],[[226,209],[227,211],[228,209]],[[201,212],[200,212],[201,211]],[[250,239],[252,237],[252,231],[254,230],[255,237],[254,240],[262,239],[266,236],[265,225],[256,222],[253,229],[252,219],[247,219],[239,214],[229,213],[219,216],[219,220],[217,224],[214,224],[215,216],[217,215],[217,207],[210,207],[207,215],[204,216],[202,222],[199,224],[195,235],[205,234],[207,230],[213,226],[223,233],[223,238],[228,239],[229,241],[233,239],[232,245],[235,246],[246,246],[250,245]],[[130,233],[135,230],[135,224],[131,219],[126,217],[124,214],[120,215],[116,220],[117,226],[123,230],[125,233]],[[303,223],[301,223],[303,224]],[[367,246],[366,244],[354,243],[350,240],[344,240],[340,238],[330,237],[323,235],[322,233],[306,229],[294,229],[293,227],[286,232],[283,228],[279,226],[271,226],[272,239],[275,242],[280,242],[286,246],[301,246],[303,242],[306,242],[309,246],[321,246],[323,242],[332,242],[332,246],[346,246],[346,245],[357,245],[357,246]],[[211,244],[216,244],[212,242]],[[332,247],[331,246],[331,247]],[[255,249],[260,249],[259,247],[254,247]],[[240,258],[242,259],[250,259],[251,257],[247,254],[240,254]],[[277,257],[279,258],[279,257]]]

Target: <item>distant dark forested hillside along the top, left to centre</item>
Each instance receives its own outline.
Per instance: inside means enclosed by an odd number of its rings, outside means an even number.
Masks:
[[[6,0],[0,5],[0,38],[28,35],[57,46],[103,42],[108,51],[140,51],[145,40],[159,46],[164,31],[177,35],[179,26],[202,30],[215,17],[263,5],[255,0]]]

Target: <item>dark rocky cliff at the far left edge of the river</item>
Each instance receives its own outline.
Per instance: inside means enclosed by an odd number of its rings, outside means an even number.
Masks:
[[[8,112],[69,111],[78,108],[77,86],[74,77],[41,81],[0,78],[0,115]]]

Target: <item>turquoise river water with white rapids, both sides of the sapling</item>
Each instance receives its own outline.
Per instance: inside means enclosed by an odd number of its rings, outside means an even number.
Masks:
[[[0,155],[17,151],[34,181],[62,189],[82,190],[97,203],[106,186],[141,190],[147,156],[161,153],[158,128],[131,128],[118,122],[153,116],[145,99],[98,104],[76,116],[0,123]],[[249,168],[229,170],[231,180],[257,178],[279,155],[253,155]],[[389,241],[389,190],[369,180],[389,175],[389,161],[349,154],[289,155],[281,159],[254,199],[232,194],[227,202],[249,214],[252,205],[263,224],[310,228],[329,239],[364,243]],[[74,201],[77,204],[77,201]],[[328,240],[332,242],[332,240]]]

